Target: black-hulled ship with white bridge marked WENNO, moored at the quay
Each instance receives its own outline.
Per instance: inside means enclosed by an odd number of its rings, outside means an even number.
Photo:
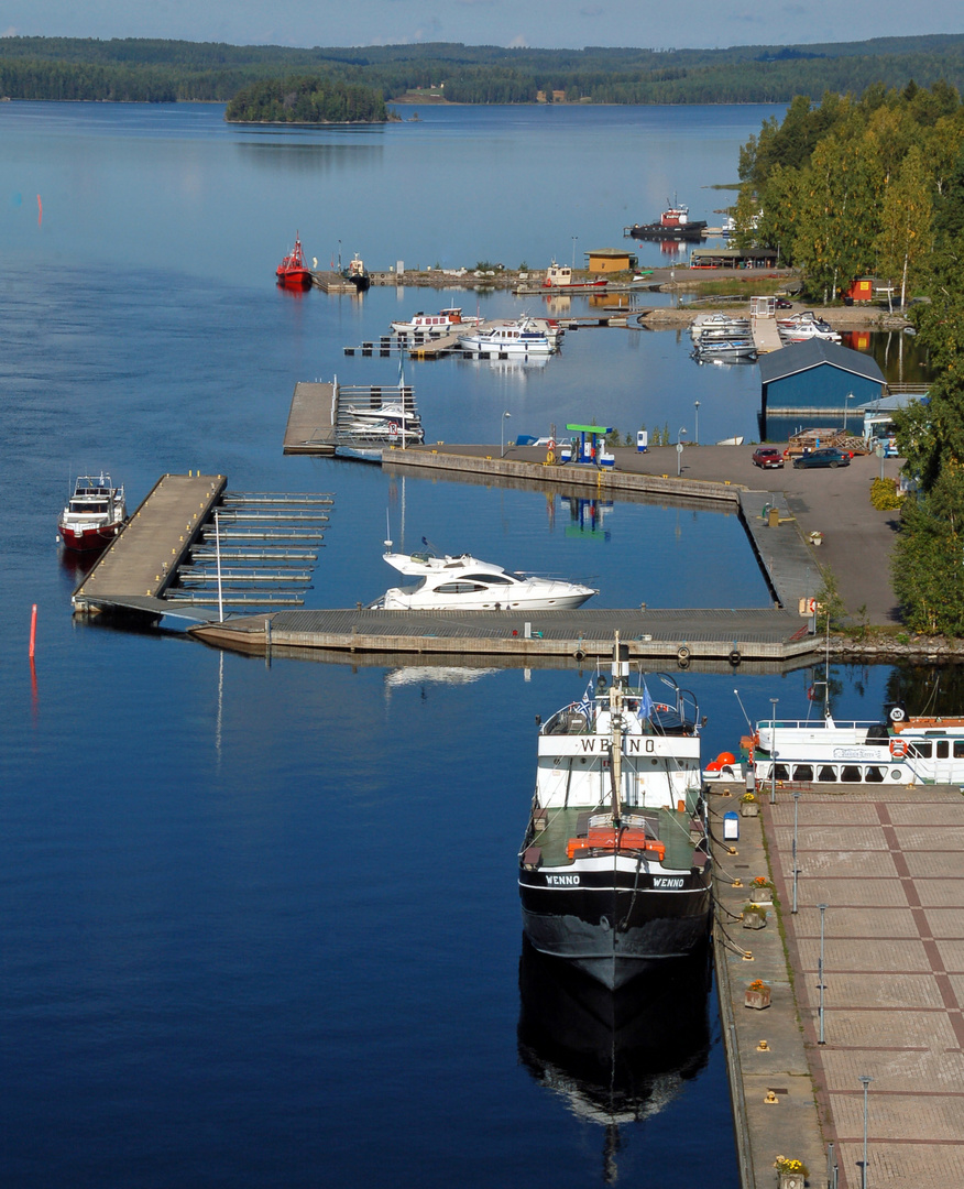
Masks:
[[[699,707],[669,677],[649,679],[667,702],[631,685],[628,658],[617,634],[611,678],[540,725],[519,850],[529,942],[610,989],[697,951],[711,919]]]

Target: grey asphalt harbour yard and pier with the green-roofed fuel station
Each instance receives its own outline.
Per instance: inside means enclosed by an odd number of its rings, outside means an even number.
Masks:
[[[881,460],[874,455],[855,458],[850,466],[837,471],[795,470],[792,465],[782,470],[763,471],[752,465],[755,447],[744,446],[687,446],[678,459],[675,446],[659,446],[645,454],[629,447],[617,447],[617,474],[644,474],[660,480],[661,496],[668,502],[675,499],[712,498],[707,487],[717,489],[717,498],[735,495],[720,491],[723,487],[739,486],[745,492],[782,493],[781,516],[793,517],[787,530],[794,529],[808,537],[812,531],[823,534],[819,551],[813,549],[814,570],[825,566],[837,578],[838,590],[849,614],[855,618],[865,619],[869,624],[887,625],[900,622],[897,603],[890,580],[890,551],[896,536],[900,518],[899,512],[877,511],[870,504],[870,484],[880,477]],[[491,457],[499,460],[498,446],[485,445],[449,445],[437,442],[420,451],[393,451],[385,455],[386,467],[405,466],[417,455],[436,451],[439,455],[465,455],[475,460]],[[544,464],[546,451],[534,447],[506,446],[505,459]],[[676,464],[680,464],[680,477],[676,478]],[[884,459],[883,473],[896,478],[900,459]],[[408,470],[408,467],[407,467]],[[493,467],[494,470],[494,467]],[[544,466],[546,480],[565,483],[566,477],[576,468],[569,466]],[[584,470],[585,468],[580,468]],[[598,477],[598,473],[593,471]],[[434,478],[448,478],[454,482],[470,482],[458,472],[439,471]],[[663,479],[664,477],[664,479]],[[606,479],[601,473],[599,490],[607,491]],[[493,474],[491,482],[504,482]],[[612,491],[611,498],[620,498]],[[745,493],[743,493],[745,499]],[[765,501],[765,496],[763,497]],[[768,529],[765,531],[783,531]],[[804,585],[808,585],[807,581]],[[862,612],[863,609],[863,612]],[[796,608],[792,608],[796,610]]]

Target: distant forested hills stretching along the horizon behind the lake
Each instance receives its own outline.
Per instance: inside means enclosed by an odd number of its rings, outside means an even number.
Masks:
[[[338,77],[389,101],[434,87],[458,103],[531,103],[540,93],[592,103],[789,102],[800,94],[859,94],[875,83],[903,87],[912,77],[964,88],[964,36],[724,50],[0,38],[0,94],[11,99],[227,102],[252,83],[294,75]]]

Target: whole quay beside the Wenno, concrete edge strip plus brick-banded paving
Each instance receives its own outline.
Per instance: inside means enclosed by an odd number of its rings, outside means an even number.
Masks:
[[[742,787],[710,797],[744,1189],[773,1184],[777,1155],[802,1159],[808,1184],[826,1183],[828,1145],[840,1189],[859,1189],[862,1076],[868,1185],[964,1184],[964,798],[947,786],[798,791],[795,916],[792,792],[777,787],[775,805],[758,792],[761,816],[739,819],[735,854],[719,838]],[[765,929],[745,930],[735,917],[756,875],[771,879],[775,907]],[[771,987],[764,1011],[744,1006],[754,979]]]

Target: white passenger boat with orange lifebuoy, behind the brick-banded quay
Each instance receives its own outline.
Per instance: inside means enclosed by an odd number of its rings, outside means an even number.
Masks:
[[[964,718],[886,722],[762,719],[750,738],[757,781],[814,785],[964,785]]]

